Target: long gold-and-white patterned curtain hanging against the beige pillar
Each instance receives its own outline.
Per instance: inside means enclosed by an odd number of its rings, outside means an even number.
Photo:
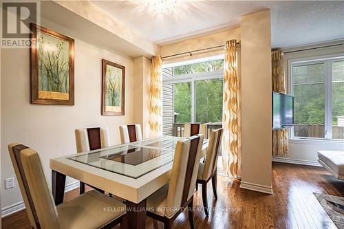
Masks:
[[[224,104],[222,170],[228,177],[241,176],[241,108],[236,40],[226,41],[224,58]]]

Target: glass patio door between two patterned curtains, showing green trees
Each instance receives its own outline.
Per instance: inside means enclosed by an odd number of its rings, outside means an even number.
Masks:
[[[223,65],[218,59],[163,69],[164,135],[172,134],[173,124],[222,124]]]

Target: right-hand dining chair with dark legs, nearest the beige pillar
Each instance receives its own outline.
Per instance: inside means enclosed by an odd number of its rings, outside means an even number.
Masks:
[[[208,212],[208,198],[206,196],[206,184],[211,179],[211,184],[213,186],[213,193],[215,199],[217,199],[216,193],[216,175],[217,175],[217,158],[219,157],[219,152],[221,149],[223,129],[217,129],[211,131],[211,137],[209,139],[208,149],[206,150],[205,162],[200,162],[198,168],[197,180],[196,180],[196,190],[198,189],[198,184],[202,184],[202,201],[204,206],[204,212],[206,216],[209,216]]]

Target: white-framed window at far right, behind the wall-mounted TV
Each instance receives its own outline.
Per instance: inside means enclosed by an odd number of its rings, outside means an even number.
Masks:
[[[291,62],[293,138],[344,139],[344,59]]]

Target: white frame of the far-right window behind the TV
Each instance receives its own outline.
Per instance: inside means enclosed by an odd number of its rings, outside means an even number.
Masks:
[[[310,137],[297,137],[294,136],[294,127],[289,131],[290,140],[319,140],[319,141],[333,141],[343,142],[342,139],[332,139],[332,63],[336,61],[344,61],[344,53],[326,55],[326,56],[313,56],[308,58],[296,58],[288,60],[288,92],[294,96],[293,91],[293,67],[300,65],[310,65],[316,63],[324,63],[325,65],[325,120],[324,138],[310,138]]]

